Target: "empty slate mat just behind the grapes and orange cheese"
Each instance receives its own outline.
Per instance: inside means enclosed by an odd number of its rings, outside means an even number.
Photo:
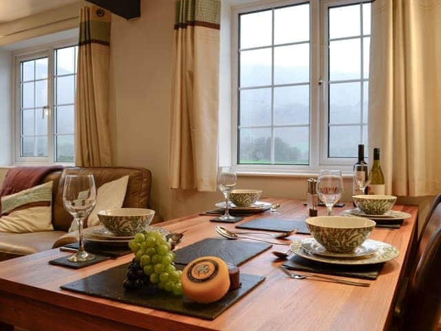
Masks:
[[[175,263],[188,264],[198,257],[218,257],[227,263],[240,265],[271,247],[269,243],[207,238],[176,250]]]

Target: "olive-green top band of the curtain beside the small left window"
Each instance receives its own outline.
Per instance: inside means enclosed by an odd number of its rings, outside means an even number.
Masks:
[[[99,43],[110,45],[111,14],[96,6],[85,7],[80,15],[79,45]]]

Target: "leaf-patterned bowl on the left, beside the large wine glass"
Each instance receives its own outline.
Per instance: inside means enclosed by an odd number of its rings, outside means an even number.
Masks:
[[[154,210],[143,208],[118,208],[98,212],[101,223],[113,234],[120,237],[134,236],[150,224]]]

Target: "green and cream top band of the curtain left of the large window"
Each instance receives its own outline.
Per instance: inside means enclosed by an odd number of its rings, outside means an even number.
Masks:
[[[174,28],[205,26],[220,29],[220,0],[176,0]]]

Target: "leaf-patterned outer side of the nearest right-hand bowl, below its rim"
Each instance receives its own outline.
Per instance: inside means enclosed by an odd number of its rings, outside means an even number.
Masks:
[[[375,225],[366,228],[322,228],[320,226],[307,224],[309,232],[323,247],[329,252],[347,253],[356,249],[361,245],[369,234],[372,232]]]

